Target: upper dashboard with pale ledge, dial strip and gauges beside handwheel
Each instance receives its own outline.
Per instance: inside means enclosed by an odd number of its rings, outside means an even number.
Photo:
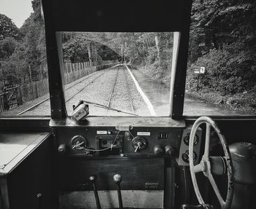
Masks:
[[[110,124],[111,121],[111,124]],[[50,121],[58,152],[65,157],[174,157],[188,165],[189,133],[182,120],[163,118],[91,117]],[[195,161],[201,130],[195,136]]]

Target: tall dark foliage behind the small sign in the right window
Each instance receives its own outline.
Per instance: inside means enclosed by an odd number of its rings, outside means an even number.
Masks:
[[[202,42],[203,40],[203,42]],[[201,87],[225,94],[256,91],[256,1],[196,0],[192,6],[187,87],[205,66]]]

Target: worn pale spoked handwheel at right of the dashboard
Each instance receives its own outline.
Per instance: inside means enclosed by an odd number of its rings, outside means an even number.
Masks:
[[[206,124],[206,144],[205,150],[202,159],[198,165],[194,165],[193,160],[193,141],[195,138],[195,133],[197,128],[202,125]],[[214,128],[217,135],[219,136],[219,141],[222,143],[222,148],[225,154],[225,162],[226,162],[226,169],[227,169],[227,197],[226,200],[223,200],[222,195],[219,192],[218,186],[214,180],[214,177],[211,173],[211,162],[209,159],[209,148],[210,148],[210,135],[211,135],[211,127]],[[222,135],[219,127],[217,127],[216,123],[210,117],[200,117],[198,118],[191,130],[190,137],[189,137],[189,168],[192,178],[192,183],[195,189],[195,194],[197,196],[197,200],[201,205],[206,205],[203,200],[202,195],[200,194],[200,190],[197,185],[197,179],[195,177],[195,173],[203,172],[204,176],[208,178],[211,183],[212,188],[214,189],[215,194],[219,200],[222,209],[230,208],[232,199],[233,199],[233,163],[230,156],[230,151],[227,146],[227,142],[225,140],[224,135]],[[207,208],[207,206],[206,206]]]

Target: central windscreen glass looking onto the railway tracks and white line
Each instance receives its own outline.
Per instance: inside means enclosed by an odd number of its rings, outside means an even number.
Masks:
[[[62,36],[68,114],[87,100],[90,115],[170,115],[173,33]]]

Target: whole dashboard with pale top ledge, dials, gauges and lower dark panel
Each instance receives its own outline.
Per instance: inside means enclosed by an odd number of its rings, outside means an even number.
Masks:
[[[123,190],[164,191],[174,167],[189,165],[191,127],[186,127],[183,120],[87,117],[76,122],[67,118],[51,119],[50,127],[56,139],[62,192],[92,190],[91,175],[97,176],[97,189],[114,190],[112,178],[116,173],[122,176]],[[200,142],[198,130],[194,141],[195,162],[199,159]]]

